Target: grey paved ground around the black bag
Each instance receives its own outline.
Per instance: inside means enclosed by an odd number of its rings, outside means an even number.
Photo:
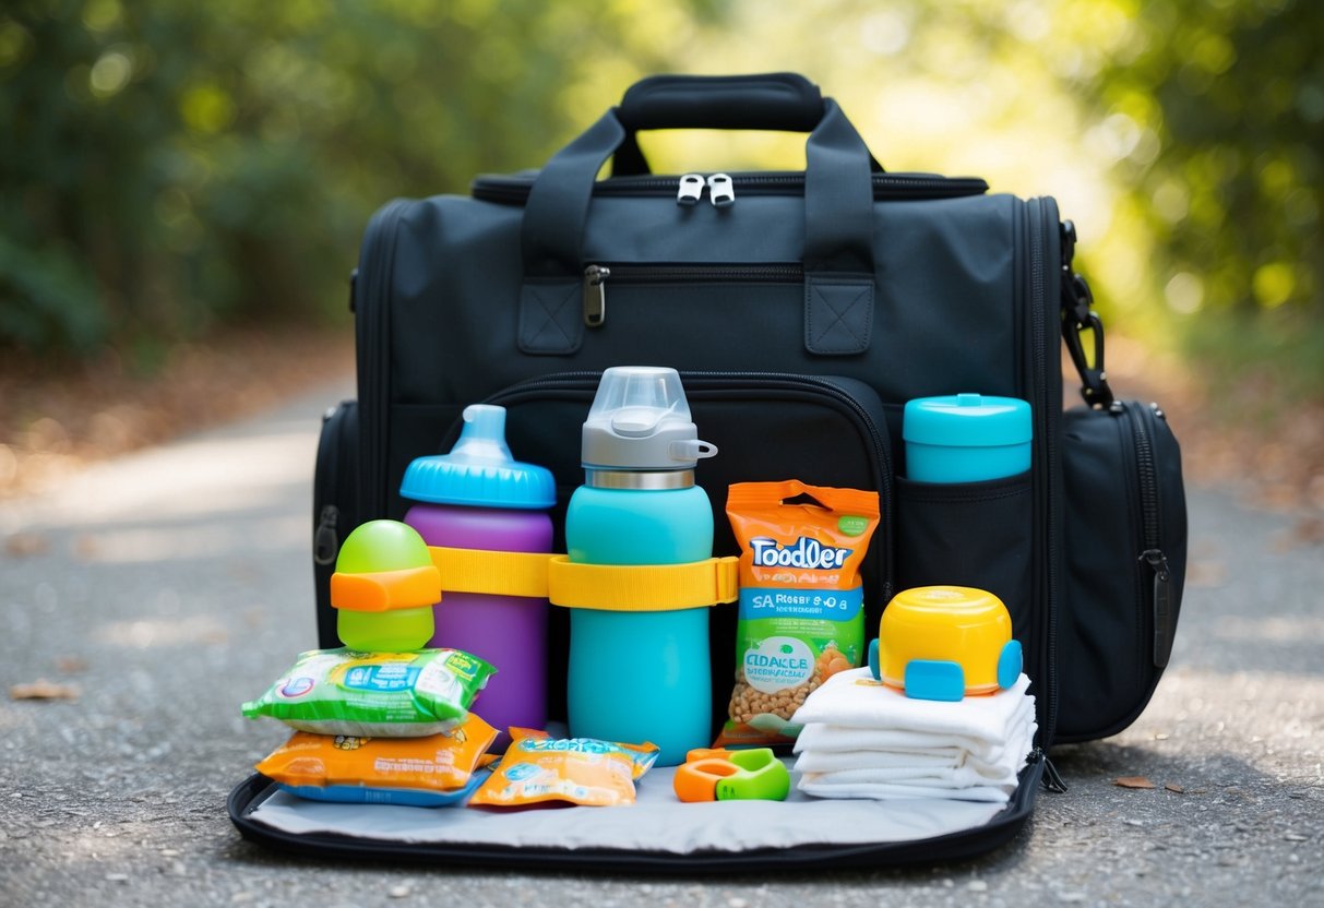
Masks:
[[[1058,748],[1009,847],[908,871],[657,879],[340,866],[244,842],[225,795],[285,739],[238,716],[314,642],[318,418],[348,386],[0,506],[0,904],[1324,905],[1324,549],[1190,490],[1157,695]],[[1180,430],[1180,425],[1178,425]],[[1153,789],[1124,789],[1143,776]],[[1165,788],[1168,786],[1168,788]]]

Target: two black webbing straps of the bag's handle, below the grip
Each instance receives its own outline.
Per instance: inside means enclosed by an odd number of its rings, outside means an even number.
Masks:
[[[722,95],[728,97],[728,95]],[[663,110],[673,110],[663,106]],[[712,109],[715,110],[715,109]],[[569,355],[583,341],[583,244],[597,173],[625,142],[612,109],[556,152],[530,189],[522,225],[519,348]],[[869,349],[874,310],[873,156],[837,102],[805,142],[805,348]]]

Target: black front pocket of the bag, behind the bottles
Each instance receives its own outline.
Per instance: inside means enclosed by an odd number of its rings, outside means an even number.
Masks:
[[[549,375],[512,385],[486,402],[506,408],[506,438],[514,455],[548,467],[556,477],[557,547],[564,551],[564,508],[584,482],[580,429],[600,379],[597,372]],[[699,435],[718,455],[699,463],[695,478],[714,510],[714,555],[739,555],[726,516],[727,488],[736,482],[800,479],[813,486],[878,491],[882,520],[861,565],[865,621],[870,635],[891,597],[892,470],[887,421],[878,394],[842,377],[771,372],[681,372]],[[448,450],[458,426],[442,439]],[[553,614],[551,678],[564,678],[565,629]],[[736,610],[711,615],[714,716],[724,716],[735,672]],[[563,687],[563,686],[561,686]],[[556,691],[557,686],[549,686]],[[551,704],[551,715],[564,704]]]

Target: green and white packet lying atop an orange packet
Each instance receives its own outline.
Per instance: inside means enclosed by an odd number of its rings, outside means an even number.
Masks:
[[[318,735],[424,737],[465,721],[495,671],[461,650],[310,650],[242,709]]]

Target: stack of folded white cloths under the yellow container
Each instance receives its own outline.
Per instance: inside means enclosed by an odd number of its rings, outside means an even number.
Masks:
[[[820,798],[949,798],[1005,803],[1034,747],[1030,680],[956,703],[915,700],[842,671],[792,717],[798,788]]]

